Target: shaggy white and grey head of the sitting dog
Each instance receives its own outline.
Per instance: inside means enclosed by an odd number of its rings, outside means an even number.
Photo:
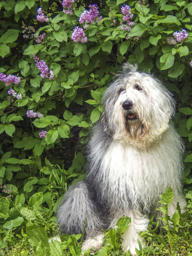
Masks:
[[[124,64],[123,73],[106,90],[102,122],[114,139],[157,139],[174,114],[172,94],[154,76]]]

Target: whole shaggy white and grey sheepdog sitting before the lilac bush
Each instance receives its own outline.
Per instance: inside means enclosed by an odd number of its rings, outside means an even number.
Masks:
[[[93,129],[88,146],[89,168],[84,181],[71,186],[58,211],[63,233],[78,234],[87,219],[82,249],[102,246],[103,232],[124,214],[131,226],[124,245],[135,254],[140,231],[148,228],[148,216],[161,217],[159,195],[171,186],[174,199],[186,206],[182,195],[183,144],[175,131],[172,94],[154,76],[124,64],[123,73],[106,90],[104,113]]]

